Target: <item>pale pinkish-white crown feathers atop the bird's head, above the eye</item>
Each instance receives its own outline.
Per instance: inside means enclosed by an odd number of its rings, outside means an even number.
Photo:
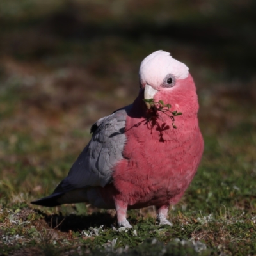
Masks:
[[[148,55],[140,65],[140,79],[143,85],[158,86],[167,74],[176,79],[188,77],[188,67],[172,58],[169,52],[156,51]]]

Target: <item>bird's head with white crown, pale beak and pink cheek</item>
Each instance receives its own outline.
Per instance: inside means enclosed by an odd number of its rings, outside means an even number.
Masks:
[[[186,93],[190,78],[188,67],[172,58],[169,52],[156,51],[147,56],[140,65],[140,88],[144,90],[144,99],[164,100],[166,95]],[[163,99],[162,99],[162,98]],[[168,97],[170,99],[170,97]],[[151,105],[145,102],[147,108]],[[164,102],[171,103],[172,102]]]

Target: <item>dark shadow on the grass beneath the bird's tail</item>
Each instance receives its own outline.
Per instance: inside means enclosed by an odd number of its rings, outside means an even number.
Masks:
[[[40,214],[50,228],[61,232],[69,232],[70,230],[81,232],[82,230],[88,230],[90,227],[99,227],[100,225],[111,227],[116,223],[116,218],[107,212],[93,212],[90,215],[70,214],[67,216],[63,216],[61,213],[48,215],[40,212]]]

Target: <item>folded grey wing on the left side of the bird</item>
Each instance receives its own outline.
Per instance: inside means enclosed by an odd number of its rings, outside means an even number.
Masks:
[[[125,120],[131,105],[98,120],[91,128],[92,139],[73,164],[55,193],[88,186],[106,186],[113,167],[122,160],[125,145]]]

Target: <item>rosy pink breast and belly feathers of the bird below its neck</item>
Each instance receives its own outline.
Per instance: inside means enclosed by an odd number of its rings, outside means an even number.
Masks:
[[[163,116],[165,118],[165,116]],[[195,120],[159,120],[168,129],[160,134],[150,129],[144,118],[127,118],[124,159],[115,167],[113,186],[116,197],[129,208],[175,204],[193,179],[202,157],[203,141]],[[139,126],[136,124],[140,123]],[[161,136],[163,141],[160,142]]]

